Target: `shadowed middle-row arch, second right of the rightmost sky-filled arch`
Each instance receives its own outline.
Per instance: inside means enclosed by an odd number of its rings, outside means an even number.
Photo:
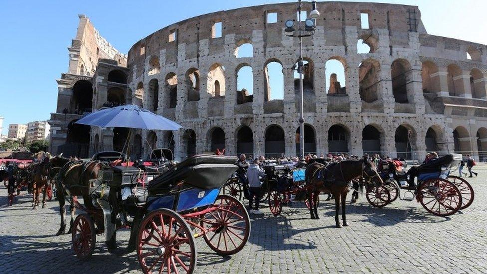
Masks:
[[[407,104],[412,100],[411,65],[404,59],[398,59],[391,64],[392,95],[396,103]]]

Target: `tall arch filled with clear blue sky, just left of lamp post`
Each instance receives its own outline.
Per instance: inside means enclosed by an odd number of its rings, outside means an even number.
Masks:
[[[264,66],[264,101],[284,99],[284,73],[278,60],[268,60]]]

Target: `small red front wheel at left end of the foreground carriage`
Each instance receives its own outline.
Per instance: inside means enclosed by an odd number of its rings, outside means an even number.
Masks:
[[[86,260],[93,254],[96,232],[91,216],[83,213],[74,219],[72,241],[74,253],[79,259]]]

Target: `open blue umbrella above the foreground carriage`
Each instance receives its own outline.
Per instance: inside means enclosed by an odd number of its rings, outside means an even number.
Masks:
[[[178,130],[181,125],[136,105],[105,108],[79,119],[76,124],[150,130]]]

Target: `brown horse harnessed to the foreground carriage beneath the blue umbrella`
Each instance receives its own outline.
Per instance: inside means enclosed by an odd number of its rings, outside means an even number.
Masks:
[[[89,182],[96,179],[98,171],[104,166],[100,161],[69,161],[65,164],[55,178],[57,200],[59,201],[59,213],[61,214],[61,227],[56,235],[66,232],[66,199],[71,204],[71,222],[68,233],[71,233],[76,211],[76,196],[81,195],[85,206],[90,209]]]

